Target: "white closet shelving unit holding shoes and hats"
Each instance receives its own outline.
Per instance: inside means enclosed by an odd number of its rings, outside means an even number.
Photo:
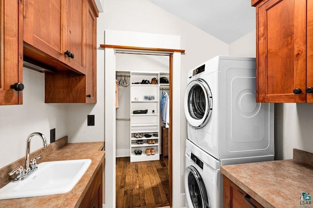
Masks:
[[[131,72],[131,139],[130,139],[130,161],[152,161],[159,160],[160,150],[160,131],[159,131],[159,84],[141,84],[142,80],[151,80],[156,78],[159,81],[158,72]],[[139,83],[139,84],[135,84]],[[147,99],[147,98],[152,99]],[[146,114],[134,114],[134,110],[148,110]],[[154,112],[153,112],[154,111]],[[152,135],[150,138],[143,136],[142,138],[135,138],[135,133],[142,133]],[[156,134],[157,136],[154,136]],[[148,140],[155,140],[156,144],[148,144]],[[143,144],[138,145],[137,140],[143,140]],[[154,148],[154,155],[146,155],[147,148]],[[134,150],[140,149],[141,155],[135,155]]]

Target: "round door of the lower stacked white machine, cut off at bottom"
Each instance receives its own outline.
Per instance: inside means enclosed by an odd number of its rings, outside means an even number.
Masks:
[[[188,208],[210,208],[211,203],[205,185],[194,166],[185,169],[185,193]]]

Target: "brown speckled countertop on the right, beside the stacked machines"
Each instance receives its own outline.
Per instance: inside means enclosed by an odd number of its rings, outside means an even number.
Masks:
[[[221,172],[266,208],[301,207],[313,195],[313,154],[293,150],[292,160],[221,166]],[[308,204],[307,204],[308,206]]]

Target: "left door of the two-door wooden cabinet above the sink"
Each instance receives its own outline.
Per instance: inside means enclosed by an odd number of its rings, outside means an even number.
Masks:
[[[65,62],[63,30],[65,20],[64,0],[24,1],[24,42],[26,48],[39,49],[38,53]],[[26,56],[32,55],[27,54]]]

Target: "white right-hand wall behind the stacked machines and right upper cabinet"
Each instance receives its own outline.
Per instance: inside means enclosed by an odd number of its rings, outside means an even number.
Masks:
[[[229,45],[232,56],[255,57],[255,30]],[[313,152],[313,104],[275,104],[275,160],[292,159],[292,149]]]

